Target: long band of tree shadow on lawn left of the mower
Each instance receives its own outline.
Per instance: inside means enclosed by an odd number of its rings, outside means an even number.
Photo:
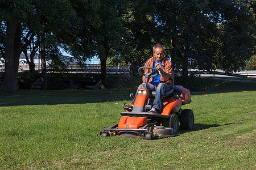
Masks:
[[[129,94],[118,90],[21,90],[18,94],[1,94],[0,107],[104,103],[131,100]]]

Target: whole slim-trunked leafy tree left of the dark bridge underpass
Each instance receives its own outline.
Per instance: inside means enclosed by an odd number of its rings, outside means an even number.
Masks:
[[[65,1],[32,1],[34,10],[30,13],[28,28],[40,41],[40,58],[42,60],[42,90],[47,90],[47,53],[50,50],[56,52],[59,42],[59,32],[65,29],[75,18],[71,2]],[[37,48],[39,42],[36,44]],[[34,53],[33,53],[34,54]],[[55,61],[55,59],[53,59]]]

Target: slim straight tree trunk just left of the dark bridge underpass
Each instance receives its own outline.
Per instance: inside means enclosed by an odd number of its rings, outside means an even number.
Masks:
[[[46,69],[46,49],[44,47],[44,42],[41,41],[41,61],[42,61],[42,90],[47,90],[47,69]]]

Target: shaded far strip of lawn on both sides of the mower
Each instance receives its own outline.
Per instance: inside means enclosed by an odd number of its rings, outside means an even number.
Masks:
[[[114,80],[113,80],[114,81]],[[130,83],[129,83],[130,82]],[[104,103],[131,100],[131,92],[135,94],[139,82],[134,79],[117,80],[109,90],[21,90],[18,94],[0,94],[0,107],[15,105],[56,105]],[[256,83],[236,82],[233,80],[215,80],[208,91],[191,92],[192,95],[218,94],[225,92],[256,91]]]

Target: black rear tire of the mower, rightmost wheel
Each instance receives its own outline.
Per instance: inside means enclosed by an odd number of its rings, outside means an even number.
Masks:
[[[193,130],[194,113],[191,109],[184,109],[180,114],[180,128],[183,130]]]

